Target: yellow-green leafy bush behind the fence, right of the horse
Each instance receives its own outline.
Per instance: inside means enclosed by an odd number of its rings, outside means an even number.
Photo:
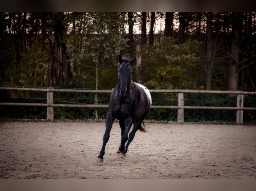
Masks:
[[[151,89],[202,89],[198,83],[202,44],[187,41],[178,45],[171,37],[141,49],[145,85]]]

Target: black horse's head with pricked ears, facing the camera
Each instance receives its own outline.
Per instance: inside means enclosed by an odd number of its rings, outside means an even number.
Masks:
[[[122,97],[126,96],[129,90],[132,80],[132,65],[135,62],[135,59],[136,57],[129,61],[123,60],[121,55],[118,57],[120,63],[118,67],[118,92]]]

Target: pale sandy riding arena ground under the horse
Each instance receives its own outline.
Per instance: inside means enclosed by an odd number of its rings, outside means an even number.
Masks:
[[[256,178],[256,125],[145,123],[126,158],[114,122],[0,122],[0,178]]]

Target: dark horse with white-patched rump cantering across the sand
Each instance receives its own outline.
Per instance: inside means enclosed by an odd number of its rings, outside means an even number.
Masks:
[[[103,145],[97,162],[103,162],[105,146],[109,140],[109,133],[115,119],[119,120],[121,127],[121,144],[117,155],[125,158],[128,146],[134,138],[135,132],[139,129],[145,132],[141,126],[151,106],[151,95],[145,86],[132,81],[132,65],[135,58],[131,61],[123,60],[121,55],[118,57],[120,63],[118,67],[118,84],[112,92],[109,100],[109,107],[106,116],[106,131],[103,136]],[[133,129],[128,133],[133,125]],[[144,124],[144,123],[143,123]],[[125,145],[126,141],[127,144]]]

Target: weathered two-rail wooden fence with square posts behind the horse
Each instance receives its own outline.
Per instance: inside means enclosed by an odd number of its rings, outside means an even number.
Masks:
[[[24,105],[24,106],[46,106],[47,119],[53,119],[53,107],[89,107],[89,108],[107,108],[107,104],[55,104],[53,103],[53,92],[76,92],[76,93],[111,93],[112,90],[80,90],[80,89],[40,89],[40,88],[7,88],[0,87],[0,90],[6,91],[40,91],[47,92],[47,103],[9,103],[0,102],[0,105]],[[244,95],[255,95],[256,92],[242,91],[206,91],[206,90],[149,90],[154,93],[176,93],[177,105],[152,105],[151,108],[177,109],[177,122],[184,122],[184,109],[232,109],[237,110],[236,122],[243,123],[243,110],[256,110],[255,107],[244,107]],[[215,106],[184,106],[184,93],[202,93],[202,94],[233,94],[237,95],[236,107],[215,107]]]

